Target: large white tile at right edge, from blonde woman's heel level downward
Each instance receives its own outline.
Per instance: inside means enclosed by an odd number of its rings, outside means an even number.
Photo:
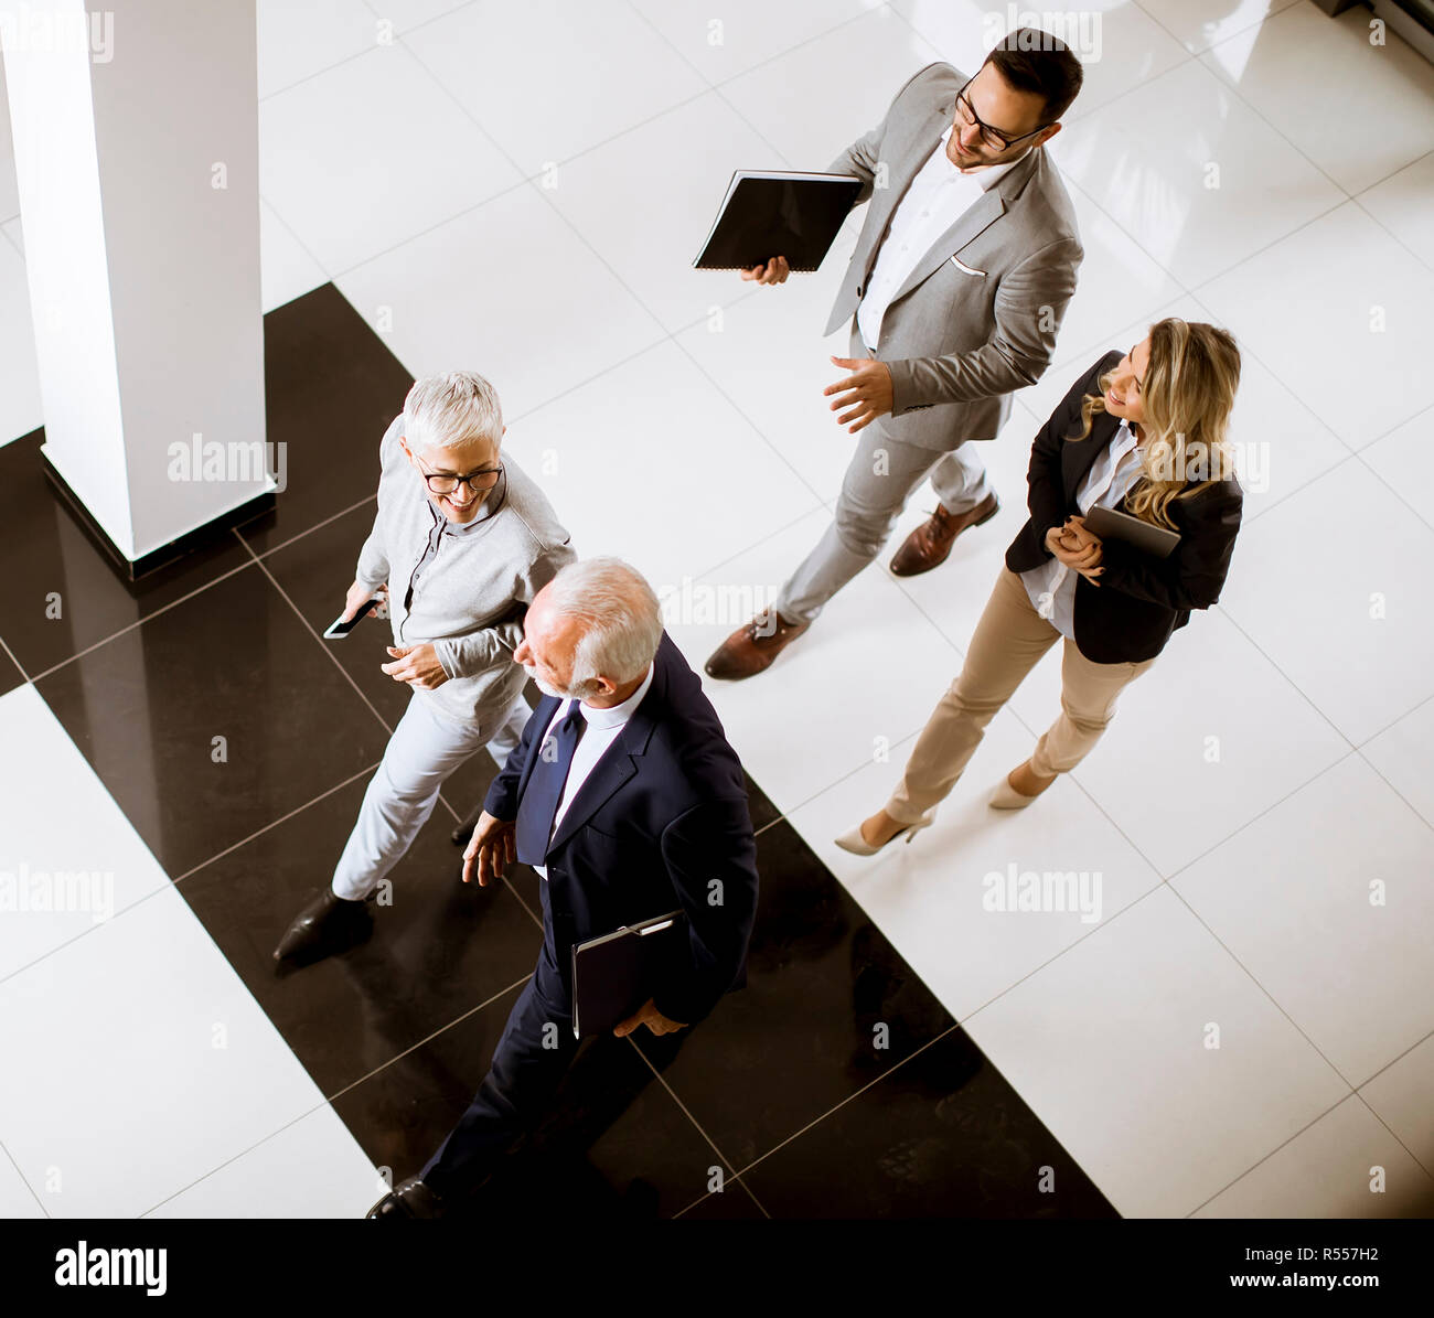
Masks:
[[[1355,1089],[1434,1031],[1434,830],[1359,756],[1170,882]]]

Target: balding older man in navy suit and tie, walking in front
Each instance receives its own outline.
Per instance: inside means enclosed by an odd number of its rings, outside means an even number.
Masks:
[[[370,1218],[447,1215],[542,1117],[578,1048],[575,945],[685,915],[685,945],[618,1037],[683,1030],[746,984],[757,909],[746,779],[652,588],[618,559],[572,564],[538,594],[513,654],[543,700],[488,789],[463,878],[476,866],[486,885],[512,861],[532,866],[542,951],[467,1111]]]

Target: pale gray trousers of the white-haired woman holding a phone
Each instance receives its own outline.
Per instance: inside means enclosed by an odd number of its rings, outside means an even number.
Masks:
[[[485,744],[502,769],[522,739],[528,714],[519,694],[496,729],[455,723],[433,713],[423,693],[414,691],[369,780],[358,822],[334,869],[334,895],[357,901],[373,892],[427,823],[447,776]]]

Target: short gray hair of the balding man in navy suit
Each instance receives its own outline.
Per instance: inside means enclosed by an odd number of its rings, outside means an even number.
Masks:
[[[552,608],[582,624],[569,688],[597,677],[618,684],[641,677],[663,641],[663,608],[637,568],[621,558],[571,562],[548,582]]]

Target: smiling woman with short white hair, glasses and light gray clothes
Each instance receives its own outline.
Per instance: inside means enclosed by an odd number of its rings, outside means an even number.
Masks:
[[[366,937],[380,881],[447,776],[485,744],[499,764],[518,746],[523,612],[575,555],[542,490],[502,456],[506,430],[492,384],[450,371],[409,390],[379,445],[379,515],[344,617],[387,595],[393,663],[381,667],[413,696],[333,882],[290,925],[275,961],[317,959]]]

